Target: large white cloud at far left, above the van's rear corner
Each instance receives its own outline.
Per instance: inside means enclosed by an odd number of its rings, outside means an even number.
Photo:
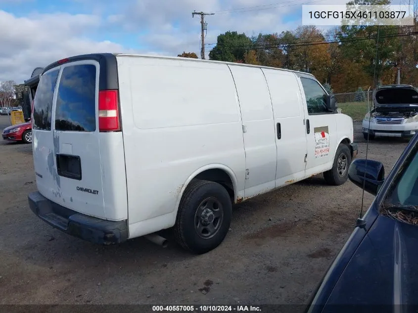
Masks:
[[[0,10],[0,81],[23,83],[35,67],[61,58],[91,52],[134,52],[110,41],[89,39],[100,28],[101,18],[88,14],[30,14],[28,17]]]

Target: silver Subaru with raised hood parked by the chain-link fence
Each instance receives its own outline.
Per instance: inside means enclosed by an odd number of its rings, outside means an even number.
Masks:
[[[371,112],[363,119],[365,139],[376,136],[412,137],[418,132],[418,89],[385,85],[373,90]]]

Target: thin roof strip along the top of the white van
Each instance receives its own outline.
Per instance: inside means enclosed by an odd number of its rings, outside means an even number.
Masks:
[[[82,54],[82,55],[75,55],[66,59],[69,59],[69,61],[76,61],[76,60],[83,60],[83,59],[95,59],[98,60],[101,57],[109,57],[110,55],[114,56],[127,56],[127,57],[143,57],[143,58],[155,58],[155,59],[170,59],[170,60],[185,60],[190,62],[210,62],[210,63],[219,63],[219,64],[229,64],[229,65],[240,65],[240,66],[248,66],[248,67],[258,67],[258,68],[266,68],[266,69],[274,69],[274,70],[280,70],[280,71],[286,71],[286,72],[292,72],[292,73],[298,73],[301,75],[307,75],[312,76],[315,78],[314,75],[310,73],[305,73],[301,71],[294,71],[294,70],[288,70],[283,68],[277,68],[277,67],[270,67],[270,66],[262,66],[262,65],[253,65],[253,64],[244,64],[244,63],[234,63],[234,62],[225,62],[225,61],[214,61],[214,60],[202,60],[202,59],[194,59],[194,58],[186,58],[186,57],[180,57],[180,56],[164,56],[164,55],[148,55],[148,54],[131,54],[131,53],[91,53],[91,54]],[[64,60],[64,59],[63,59]],[[56,61],[48,66],[45,67],[43,73],[45,73],[47,70],[60,65],[62,62]]]

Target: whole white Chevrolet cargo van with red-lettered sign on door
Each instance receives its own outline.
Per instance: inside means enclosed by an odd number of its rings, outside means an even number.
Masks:
[[[44,70],[33,109],[45,222],[101,244],[174,228],[205,253],[232,204],[324,173],[346,181],[352,119],[310,74],[244,64],[88,54]]]

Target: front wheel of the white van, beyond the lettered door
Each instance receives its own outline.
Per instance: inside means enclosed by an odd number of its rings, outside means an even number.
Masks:
[[[332,169],[324,172],[324,179],[331,185],[342,185],[348,178],[348,167],[351,164],[350,148],[340,143],[335,154]]]

